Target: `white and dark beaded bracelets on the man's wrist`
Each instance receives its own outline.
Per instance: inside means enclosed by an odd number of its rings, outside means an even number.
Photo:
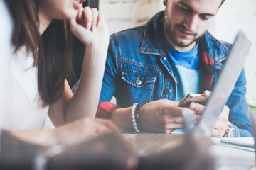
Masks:
[[[142,132],[142,126],[139,119],[139,108],[142,103],[134,103],[132,105],[132,124],[134,125],[134,130],[138,133]]]

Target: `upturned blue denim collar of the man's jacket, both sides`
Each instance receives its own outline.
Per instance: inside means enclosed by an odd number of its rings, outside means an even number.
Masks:
[[[164,17],[164,11],[156,13],[156,15],[146,24],[142,45],[139,48],[139,52],[142,54],[151,55],[163,55],[164,47],[162,45],[159,32],[163,32],[162,19]],[[228,43],[217,40],[208,31],[200,38],[201,47],[203,50],[217,62],[222,62],[230,51],[230,45]]]

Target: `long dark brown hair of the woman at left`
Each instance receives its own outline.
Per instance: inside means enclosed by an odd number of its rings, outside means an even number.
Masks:
[[[41,36],[38,25],[40,0],[6,0],[13,22],[12,44],[32,52],[38,67],[38,91],[45,105],[62,98],[64,82],[72,67],[72,34],[67,21],[53,20]]]

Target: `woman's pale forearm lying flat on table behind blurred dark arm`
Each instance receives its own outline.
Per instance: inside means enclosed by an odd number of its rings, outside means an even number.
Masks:
[[[9,132],[25,142],[45,147],[57,144],[75,145],[102,134],[119,134],[119,130],[110,120],[98,118],[82,118],[50,130],[9,130]]]

